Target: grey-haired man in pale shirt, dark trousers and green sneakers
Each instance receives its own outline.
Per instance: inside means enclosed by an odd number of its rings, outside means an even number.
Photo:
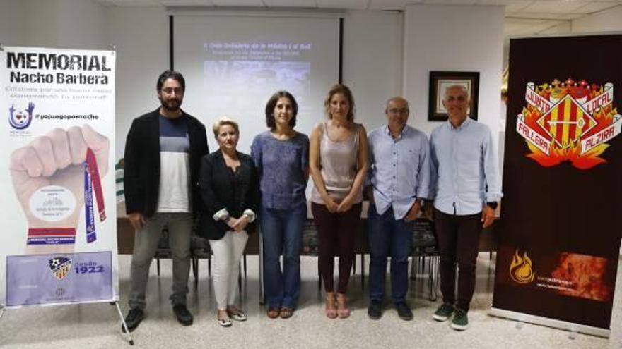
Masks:
[[[479,235],[493,223],[502,195],[491,130],[467,116],[470,105],[467,89],[462,85],[447,87],[442,104],[449,119],[430,135],[433,169],[430,192],[435,192],[443,300],[433,318],[445,321],[453,314],[452,329],[465,330],[469,327],[467,312],[475,289]],[[454,295],[456,263],[457,298]]]

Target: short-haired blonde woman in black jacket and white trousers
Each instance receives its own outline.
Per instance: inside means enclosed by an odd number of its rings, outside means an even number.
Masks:
[[[245,321],[235,305],[238,264],[248,240],[247,226],[255,220],[259,204],[259,182],[251,157],[237,151],[237,123],[221,118],[213,125],[218,150],[203,157],[199,187],[204,211],[197,232],[209,239],[214,257],[213,287],[221,326],[231,319]]]

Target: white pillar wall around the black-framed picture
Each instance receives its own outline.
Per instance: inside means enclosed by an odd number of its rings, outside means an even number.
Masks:
[[[411,123],[430,133],[430,71],[479,71],[478,120],[499,132],[502,6],[408,5],[404,18],[404,95],[411,102]]]

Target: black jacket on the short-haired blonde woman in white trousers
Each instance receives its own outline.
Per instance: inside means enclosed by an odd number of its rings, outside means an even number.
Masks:
[[[209,240],[220,240],[231,228],[225,221],[215,221],[213,215],[227,209],[229,215],[239,218],[245,209],[251,209],[257,217],[259,208],[259,176],[252,158],[237,152],[240,167],[235,174],[225,163],[223,152],[218,149],[201,160],[199,187],[204,208],[199,215],[197,235]],[[247,232],[252,231],[250,227]]]

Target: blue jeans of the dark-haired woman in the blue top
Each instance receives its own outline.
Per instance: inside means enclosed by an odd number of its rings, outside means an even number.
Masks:
[[[300,295],[300,245],[307,205],[292,209],[261,207],[264,287],[271,308],[295,308]],[[283,269],[279,257],[283,255]]]

